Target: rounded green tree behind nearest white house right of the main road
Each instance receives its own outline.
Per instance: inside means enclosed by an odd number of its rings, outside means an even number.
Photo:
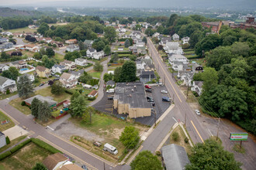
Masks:
[[[218,84],[218,73],[214,68],[206,67],[202,72],[202,80],[202,89],[208,91]]]

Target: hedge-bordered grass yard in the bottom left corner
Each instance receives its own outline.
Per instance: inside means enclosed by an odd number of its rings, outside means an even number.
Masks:
[[[48,155],[51,155],[50,151],[40,148],[33,144],[33,142],[30,142],[9,158],[2,160],[0,162],[0,169],[32,169],[37,162],[43,162],[43,159],[47,158]]]

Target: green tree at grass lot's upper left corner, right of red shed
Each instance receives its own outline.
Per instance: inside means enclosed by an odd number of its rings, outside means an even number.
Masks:
[[[79,95],[78,97],[75,97],[73,100],[71,100],[71,115],[73,117],[81,117],[86,110],[86,100],[85,97]]]

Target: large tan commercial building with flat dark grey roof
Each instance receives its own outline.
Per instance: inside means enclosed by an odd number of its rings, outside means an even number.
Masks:
[[[151,104],[147,102],[144,83],[116,83],[114,109],[130,118],[151,116]]]

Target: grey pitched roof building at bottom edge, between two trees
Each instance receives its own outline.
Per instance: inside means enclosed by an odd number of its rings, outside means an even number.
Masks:
[[[183,170],[185,165],[190,164],[185,148],[171,144],[161,148],[164,169]]]

